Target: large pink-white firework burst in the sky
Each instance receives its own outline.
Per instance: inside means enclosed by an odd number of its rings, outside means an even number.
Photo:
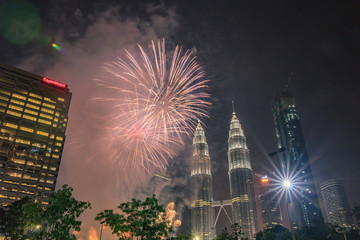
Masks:
[[[167,165],[182,137],[190,135],[210,107],[205,73],[192,56],[177,46],[168,56],[165,40],[148,50],[138,44],[137,55],[105,65],[105,77],[96,81],[116,91],[115,113],[109,119],[115,162],[126,170],[150,171]]]

